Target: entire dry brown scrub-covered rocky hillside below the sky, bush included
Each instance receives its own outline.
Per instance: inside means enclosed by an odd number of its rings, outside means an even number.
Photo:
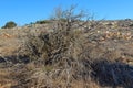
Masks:
[[[55,22],[0,30],[0,88],[133,88],[133,21]]]

